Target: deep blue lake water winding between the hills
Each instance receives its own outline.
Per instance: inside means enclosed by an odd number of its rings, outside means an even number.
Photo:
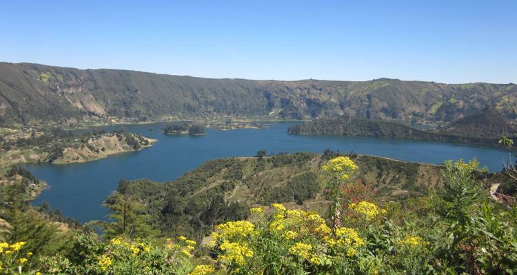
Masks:
[[[267,129],[232,131],[207,130],[204,136],[168,136],[161,133],[165,123],[125,125],[126,131],[141,133],[159,140],[150,148],[123,153],[83,164],[27,164],[26,168],[48,182],[34,200],[43,201],[66,216],[85,222],[105,219],[108,209],[101,203],[116,190],[120,179],[148,178],[170,181],[209,159],[252,156],[256,151],[323,152],[326,148],[343,153],[354,151],[410,162],[440,164],[446,159],[477,157],[483,166],[496,171],[503,167],[508,152],[498,148],[465,146],[437,142],[413,142],[376,137],[298,136],[288,135],[287,127],[296,122],[272,122]],[[95,127],[112,131],[121,126]],[[149,129],[154,132],[150,133]]]

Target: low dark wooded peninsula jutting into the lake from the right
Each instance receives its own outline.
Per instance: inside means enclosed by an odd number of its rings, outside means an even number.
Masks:
[[[469,124],[470,125],[470,124]],[[492,131],[491,135],[479,135],[486,126],[478,125],[476,129],[472,126],[469,132],[453,131],[424,131],[398,124],[396,122],[364,120],[361,118],[321,118],[310,122],[303,122],[291,126],[287,132],[296,135],[346,135],[352,137],[387,137],[404,140],[425,140],[434,142],[454,142],[463,144],[475,144],[483,146],[498,146],[498,140],[506,132],[498,133]],[[460,130],[460,129],[457,129]],[[470,134],[470,135],[469,135]]]

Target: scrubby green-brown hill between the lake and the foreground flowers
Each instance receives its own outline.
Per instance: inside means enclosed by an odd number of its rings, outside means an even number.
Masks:
[[[319,171],[334,153],[294,153],[270,157],[216,159],[175,181],[121,181],[118,192],[145,205],[152,224],[163,232],[201,235],[227,220],[244,219],[250,206],[303,205],[325,212]],[[423,195],[440,185],[440,166],[350,155],[358,164],[354,180],[371,184],[378,197]],[[108,199],[108,205],[114,202]]]

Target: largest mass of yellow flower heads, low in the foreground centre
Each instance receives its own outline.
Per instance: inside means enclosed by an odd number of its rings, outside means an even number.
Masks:
[[[364,206],[364,203],[360,206]],[[360,248],[366,245],[356,230],[332,230],[314,212],[286,210],[280,203],[274,203],[272,208],[272,214],[255,221],[256,225],[248,221],[232,221],[216,226],[211,246],[219,253],[220,263],[234,265],[232,268],[237,269],[251,266],[256,257],[261,257],[263,245],[267,243],[262,238],[268,238],[276,245],[285,245],[294,257],[291,259],[314,266],[332,265],[332,261],[358,254]]]

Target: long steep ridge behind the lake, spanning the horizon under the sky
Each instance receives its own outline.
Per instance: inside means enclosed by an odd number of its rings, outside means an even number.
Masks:
[[[447,85],[386,78],[209,79],[0,63],[0,124],[224,115],[279,119],[350,115],[405,122],[449,122],[486,106],[498,106],[504,115],[509,115],[505,103],[508,95],[515,100],[517,85]]]

